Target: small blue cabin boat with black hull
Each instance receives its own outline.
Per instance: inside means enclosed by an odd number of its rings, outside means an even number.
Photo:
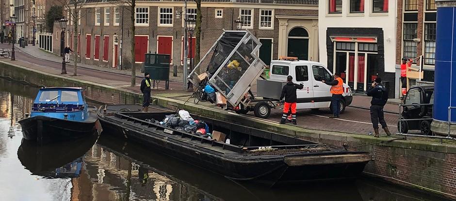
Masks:
[[[82,88],[41,88],[33,101],[30,117],[19,121],[23,138],[39,142],[78,139],[94,134],[98,126],[96,108],[85,102]]]

